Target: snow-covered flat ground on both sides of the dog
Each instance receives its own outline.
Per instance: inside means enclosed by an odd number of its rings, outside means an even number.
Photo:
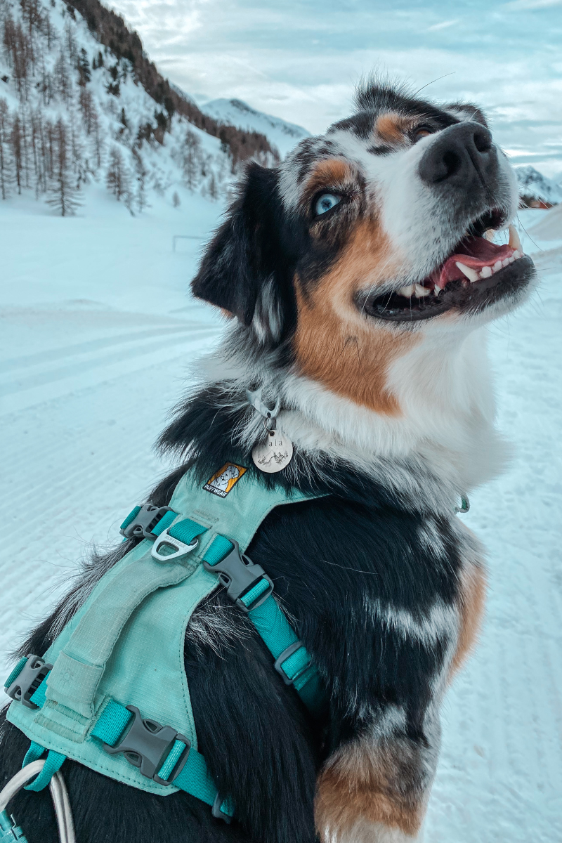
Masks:
[[[217,206],[162,203],[132,219],[94,198],[69,219],[0,203],[5,673],[78,557],[113,542],[165,470],[151,445],[219,330],[186,298],[201,241],[172,251],[173,234],[206,236]],[[516,455],[465,516],[489,548],[490,599],[479,649],[447,696],[431,843],[562,840],[561,243],[562,232],[544,244],[533,301],[490,329]]]

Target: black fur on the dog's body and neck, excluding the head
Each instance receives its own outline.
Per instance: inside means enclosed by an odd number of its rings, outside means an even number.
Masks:
[[[165,433],[163,444],[182,450],[193,443],[198,474],[206,479],[225,455],[249,464],[248,454],[241,454],[228,435],[232,425],[217,396],[213,402],[212,395],[202,394]],[[459,566],[454,537],[447,521],[436,524],[447,547],[436,557],[420,543],[424,515],[405,511],[366,476],[343,465],[330,468],[337,482],[319,473],[308,481],[308,488],[326,497],[271,513],[248,551],[273,578],[297,634],[313,653],[328,689],[329,711],[311,722],[273,670],[263,642],[219,594],[213,599],[227,606],[240,636],[226,638],[217,654],[204,641],[195,646],[188,631],[185,670],[201,751],[221,792],[234,798],[238,821],[227,828],[211,818],[206,805],[183,793],[152,796],[68,760],[63,771],[81,843],[312,843],[314,781],[330,751],[361,735],[389,704],[404,706],[405,737],[425,745],[431,679],[442,669],[448,642],[428,647],[404,640],[366,606],[377,600],[421,618],[436,598],[451,604]],[[153,502],[169,502],[183,470],[159,484]],[[283,472],[260,479],[286,484]],[[52,620],[62,610],[61,605],[35,631],[26,652],[45,652]],[[205,611],[201,606],[199,612]],[[0,781],[18,770],[27,744],[17,729],[3,724]],[[56,843],[45,792],[24,792],[11,809],[29,843]]]

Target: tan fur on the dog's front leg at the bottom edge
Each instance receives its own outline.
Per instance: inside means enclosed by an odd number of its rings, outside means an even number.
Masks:
[[[361,820],[412,836],[420,829],[426,799],[409,781],[415,752],[404,742],[369,749],[356,744],[340,751],[320,774],[314,814],[323,840],[339,840]]]

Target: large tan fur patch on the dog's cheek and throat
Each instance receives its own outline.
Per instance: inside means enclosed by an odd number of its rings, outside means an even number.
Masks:
[[[302,374],[370,410],[399,415],[386,385],[388,365],[418,338],[374,324],[353,301],[359,289],[382,280],[390,261],[388,240],[377,223],[363,221],[309,295],[296,278],[295,351]]]

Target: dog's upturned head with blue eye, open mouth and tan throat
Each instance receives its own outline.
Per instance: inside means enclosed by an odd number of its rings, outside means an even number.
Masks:
[[[391,363],[506,313],[534,268],[515,229],[491,242],[517,184],[478,108],[377,84],[356,105],[276,169],[249,166],[193,291],[298,373],[392,413]]]

